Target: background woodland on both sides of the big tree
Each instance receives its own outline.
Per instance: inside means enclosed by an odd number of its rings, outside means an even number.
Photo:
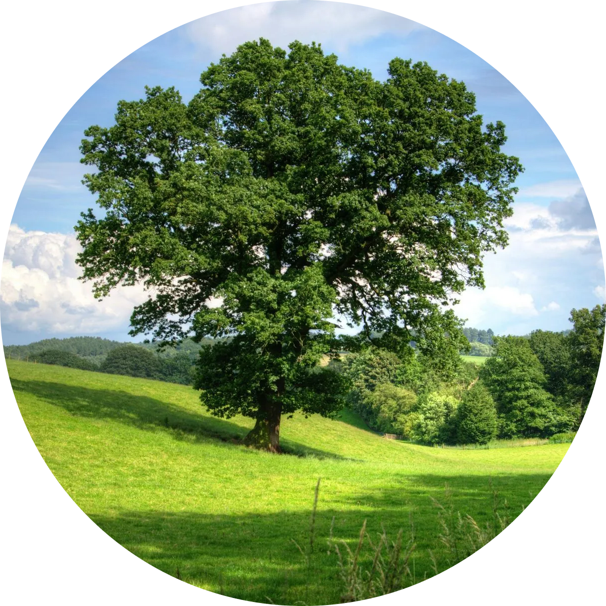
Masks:
[[[475,354],[490,356],[482,367],[462,359],[436,365],[413,349],[401,359],[373,345],[328,365],[348,379],[347,405],[375,431],[423,444],[548,438],[576,431],[584,418],[605,319],[606,305],[597,305],[571,310],[574,328],[566,331],[496,336],[490,329],[464,328],[471,351],[489,352]],[[4,356],[191,385],[199,351],[212,343],[184,339],[162,348],[82,336],[5,346]]]

